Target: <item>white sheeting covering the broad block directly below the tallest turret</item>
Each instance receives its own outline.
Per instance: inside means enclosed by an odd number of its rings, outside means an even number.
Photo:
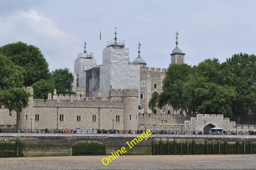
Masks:
[[[102,94],[105,96],[109,96],[111,88],[134,88],[140,91],[140,67],[139,65],[104,65],[100,68],[100,82]]]

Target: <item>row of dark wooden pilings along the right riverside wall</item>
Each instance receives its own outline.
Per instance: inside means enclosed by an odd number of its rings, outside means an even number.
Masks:
[[[185,142],[184,142],[185,140]],[[197,155],[197,154],[256,154],[256,143],[252,140],[205,140],[204,144],[196,144],[197,139],[153,138],[152,155]],[[202,139],[200,139],[202,141]]]

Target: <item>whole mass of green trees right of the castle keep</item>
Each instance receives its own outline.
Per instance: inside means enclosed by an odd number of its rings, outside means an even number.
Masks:
[[[223,63],[207,59],[194,67],[170,65],[162,93],[149,102],[160,109],[167,104],[186,113],[256,114],[255,85],[256,56],[240,53]]]

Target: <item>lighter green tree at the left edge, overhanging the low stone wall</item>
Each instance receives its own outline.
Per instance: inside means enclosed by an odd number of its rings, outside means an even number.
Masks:
[[[24,89],[22,68],[15,66],[8,57],[0,54],[0,108],[5,105],[20,113],[28,106],[30,93]]]

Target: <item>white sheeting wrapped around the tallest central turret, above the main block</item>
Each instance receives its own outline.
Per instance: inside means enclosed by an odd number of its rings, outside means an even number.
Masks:
[[[116,63],[121,65],[129,64],[129,49],[113,49],[108,47],[103,49],[103,65]]]

